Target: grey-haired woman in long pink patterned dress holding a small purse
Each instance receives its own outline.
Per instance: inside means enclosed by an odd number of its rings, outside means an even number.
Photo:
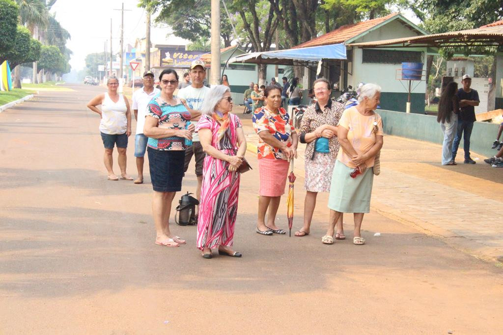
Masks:
[[[196,127],[206,153],[203,185],[197,225],[197,247],[203,258],[219,255],[241,257],[232,250],[237,214],[239,177],[237,171],[246,151],[246,140],[239,118],[232,110],[230,89],[225,85],[211,88],[201,108]]]

